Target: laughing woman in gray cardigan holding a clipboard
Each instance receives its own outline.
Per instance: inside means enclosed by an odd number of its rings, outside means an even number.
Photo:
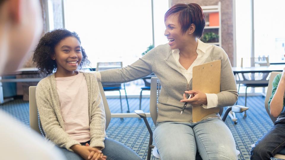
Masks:
[[[153,137],[162,159],[195,159],[197,150],[202,159],[237,159],[235,140],[218,113],[192,122],[193,105],[225,107],[237,101],[235,78],[227,54],[222,48],[197,39],[205,27],[205,15],[198,4],[172,6],[164,22],[168,44],[157,46],[130,66],[100,72],[102,82],[122,83],[156,74],[162,89]],[[205,94],[191,90],[193,66],[214,60],[221,60],[221,92]],[[194,97],[183,100],[191,105],[180,115],[184,104],[180,100],[185,90]]]

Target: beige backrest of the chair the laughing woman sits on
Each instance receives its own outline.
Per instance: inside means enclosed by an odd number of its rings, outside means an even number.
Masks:
[[[149,102],[149,112],[151,114],[152,121],[156,125],[157,119],[157,103],[159,103],[159,95],[161,90],[161,84],[157,77],[151,77],[151,93]],[[219,114],[222,115],[224,111],[223,107],[220,107]]]

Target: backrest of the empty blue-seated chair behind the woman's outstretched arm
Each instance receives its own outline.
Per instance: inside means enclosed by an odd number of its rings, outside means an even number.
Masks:
[[[105,71],[108,69],[122,68],[123,62],[98,62],[96,71]],[[102,84],[105,87],[121,87],[121,84]]]

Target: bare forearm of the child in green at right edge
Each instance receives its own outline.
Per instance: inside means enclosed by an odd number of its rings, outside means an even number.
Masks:
[[[283,109],[283,97],[285,92],[285,81],[280,80],[276,92],[270,102],[270,114],[274,117],[280,115]]]

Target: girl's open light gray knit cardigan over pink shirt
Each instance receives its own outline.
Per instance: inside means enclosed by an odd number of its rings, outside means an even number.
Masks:
[[[105,147],[105,110],[102,103],[97,79],[92,73],[84,73],[88,88],[89,126],[91,147]],[[72,145],[80,143],[73,140],[66,132],[61,116],[56,79],[54,74],[39,81],[36,88],[36,101],[42,127],[47,139],[61,148],[72,151]]]

